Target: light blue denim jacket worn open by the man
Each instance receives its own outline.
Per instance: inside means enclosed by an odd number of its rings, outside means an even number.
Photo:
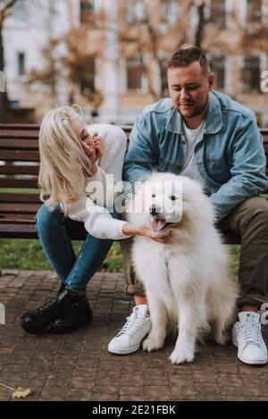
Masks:
[[[194,153],[218,220],[268,188],[263,138],[254,113],[228,96],[210,93],[204,130]],[[135,122],[123,180],[133,187],[155,170],[180,174],[186,155],[180,113],[171,99],[162,99],[147,106]]]

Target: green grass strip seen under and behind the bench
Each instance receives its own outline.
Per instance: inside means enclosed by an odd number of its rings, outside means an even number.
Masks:
[[[82,241],[74,241],[74,251],[80,251]],[[49,270],[50,264],[39,244],[34,239],[0,239],[0,268],[23,270]],[[229,246],[233,271],[238,272],[239,246]],[[104,264],[100,268],[105,272],[119,272],[122,270],[121,249],[119,242],[114,242]]]

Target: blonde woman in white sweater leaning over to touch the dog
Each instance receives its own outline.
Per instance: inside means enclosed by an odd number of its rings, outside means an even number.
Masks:
[[[86,287],[113,239],[144,235],[164,241],[166,237],[135,229],[113,210],[114,185],[121,180],[126,151],[126,136],[119,127],[87,127],[75,108],[61,107],[46,114],[39,151],[38,180],[45,204],[38,210],[37,231],[61,286],[43,306],[23,314],[21,326],[30,333],[62,333],[91,322]],[[71,246],[70,219],[83,222],[88,230],[78,257]]]

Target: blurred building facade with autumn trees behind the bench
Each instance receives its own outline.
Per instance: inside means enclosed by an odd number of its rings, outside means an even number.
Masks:
[[[35,110],[37,121],[51,107],[76,101],[88,122],[133,123],[146,105],[167,96],[172,51],[199,39],[215,88],[268,127],[268,93],[260,88],[268,70],[268,0],[28,1],[5,22],[5,76],[13,106]],[[44,71],[43,80],[29,83],[32,71]]]

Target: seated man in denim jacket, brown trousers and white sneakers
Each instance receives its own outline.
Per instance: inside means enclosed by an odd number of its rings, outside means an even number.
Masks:
[[[232,341],[240,360],[265,364],[267,348],[256,313],[268,301],[268,202],[258,197],[268,187],[263,138],[250,110],[213,91],[214,75],[199,48],[172,55],[168,84],[171,99],[148,106],[134,125],[123,179],[134,185],[156,169],[204,182],[219,227],[241,238],[239,321]],[[139,348],[150,318],[144,290],[130,270],[130,240],[122,247],[127,293],[136,306],[108,348],[126,354]]]

